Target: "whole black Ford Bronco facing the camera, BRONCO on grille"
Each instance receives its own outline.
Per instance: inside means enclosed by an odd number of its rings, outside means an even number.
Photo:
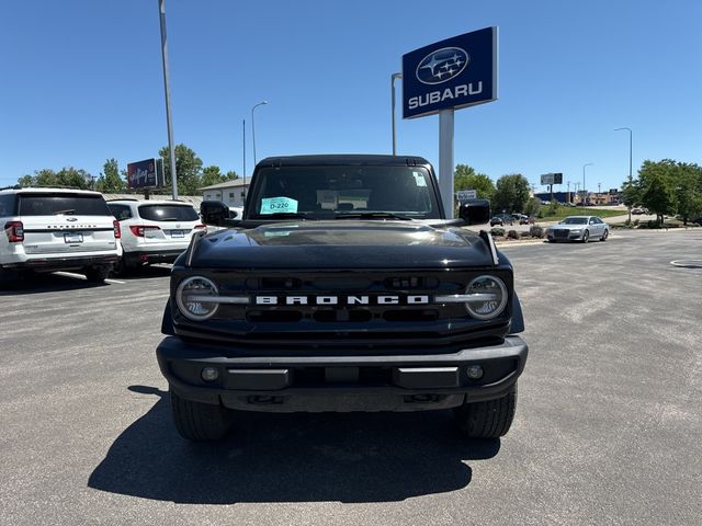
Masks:
[[[233,410],[453,409],[507,433],[528,347],[489,204],[445,219],[417,157],[269,158],[244,216],[204,202],[176,261],[157,348],[179,433],[227,434]]]

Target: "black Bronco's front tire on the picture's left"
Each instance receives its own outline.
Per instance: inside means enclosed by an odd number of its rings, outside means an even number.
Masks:
[[[214,442],[226,436],[231,427],[231,412],[222,405],[193,402],[179,397],[172,389],[171,412],[178,434],[191,442]]]

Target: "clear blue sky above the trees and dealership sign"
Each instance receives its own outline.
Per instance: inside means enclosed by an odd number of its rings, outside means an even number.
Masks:
[[[242,172],[257,155],[392,150],[405,53],[499,26],[499,100],[455,115],[455,162],[615,187],[645,159],[702,163],[699,0],[167,0],[176,142]],[[399,107],[398,107],[399,110]],[[398,153],[438,165],[437,116]],[[0,185],[42,168],[99,175],[167,144],[157,0],[0,0]],[[438,167],[437,167],[438,168]],[[565,184],[562,190],[565,188]]]

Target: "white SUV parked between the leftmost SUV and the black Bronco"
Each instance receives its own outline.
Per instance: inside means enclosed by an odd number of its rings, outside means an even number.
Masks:
[[[192,205],[178,201],[116,199],[107,207],[122,228],[118,274],[148,263],[172,263],[193,232],[206,228]]]

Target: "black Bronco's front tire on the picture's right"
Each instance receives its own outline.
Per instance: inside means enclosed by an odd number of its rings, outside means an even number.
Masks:
[[[512,425],[517,411],[517,384],[507,395],[487,402],[464,403],[453,410],[458,431],[469,438],[498,438]]]

